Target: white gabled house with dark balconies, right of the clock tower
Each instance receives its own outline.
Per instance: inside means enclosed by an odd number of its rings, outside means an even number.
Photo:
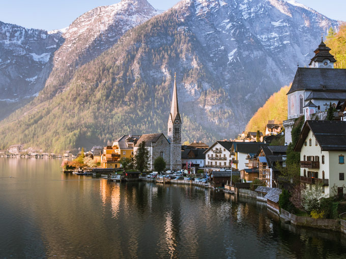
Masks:
[[[216,141],[204,153],[206,155],[206,167],[232,168],[232,155],[230,151],[232,141]]]

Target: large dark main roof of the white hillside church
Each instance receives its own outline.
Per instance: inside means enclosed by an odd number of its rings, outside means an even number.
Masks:
[[[346,92],[346,69],[298,68],[291,89]]]

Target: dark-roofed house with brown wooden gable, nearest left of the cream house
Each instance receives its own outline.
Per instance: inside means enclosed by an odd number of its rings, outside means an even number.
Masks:
[[[258,163],[258,179],[264,181],[267,187],[279,187],[280,171],[277,164],[286,166],[286,151],[288,146],[262,146],[256,154]]]

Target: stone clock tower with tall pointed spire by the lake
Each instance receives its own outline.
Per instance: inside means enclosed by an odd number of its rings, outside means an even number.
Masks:
[[[170,170],[180,170],[182,168],[182,137],[181,137],[182,121],[178,107],[178,92],[176,73],[174,74],[174,88],[170,113],[168,117],[167,137],[170,143]]]

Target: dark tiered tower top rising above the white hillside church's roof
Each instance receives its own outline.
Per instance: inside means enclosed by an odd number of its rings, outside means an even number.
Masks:
[[[323,42],[323,37],[318,48],[313,52],[315,56],[311,58],[309,63],[310,68],[334,68],[334,63],[336,59],[332,54],[329,53],[331,49],[326,46]]]

